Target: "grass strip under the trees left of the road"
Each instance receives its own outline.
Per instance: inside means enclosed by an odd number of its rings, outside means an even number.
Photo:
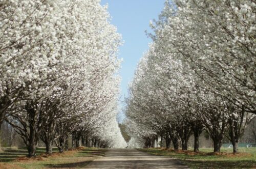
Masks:
[[[82,168],[95,157],[102,156],[104,149],[79,148],[64,153],[53,149],[52,155],[45,154],[45,148],[37,149],[37,156],[28,158],[26,149],[8,150],[0,153],[0,168]]]

